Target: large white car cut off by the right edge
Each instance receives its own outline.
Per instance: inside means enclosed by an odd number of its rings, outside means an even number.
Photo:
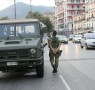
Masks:
[[[81,48],[95,48],[95,33],[87,33],[83,36],[80,42]]]

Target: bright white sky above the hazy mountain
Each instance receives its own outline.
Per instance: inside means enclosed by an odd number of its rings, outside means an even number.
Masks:
[[[30,0],[15,0],[15,1],[30,4]],[[0,0],[0,10],[3,10],[13,4],[14,0]],[[54,0],[31,0],[31,5],[54,6]]]

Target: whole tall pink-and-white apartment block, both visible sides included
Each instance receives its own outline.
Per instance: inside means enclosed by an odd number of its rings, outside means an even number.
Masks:
[[[85,11],[85,0],[55,0],[55,29],[69,36],[73,33],[73,16]]]

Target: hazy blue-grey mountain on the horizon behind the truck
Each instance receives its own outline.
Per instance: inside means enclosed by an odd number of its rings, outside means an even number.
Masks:
[[[33,12],[53,12],[53,7],[48,6],[31,6]],[[16,3],[16,17],[24,18],[30,11],[30,5],[18,2]],[[0,17],[8,16],[10,19],[14,18],[14,5],[7,7],[6,9],[0,11]]]

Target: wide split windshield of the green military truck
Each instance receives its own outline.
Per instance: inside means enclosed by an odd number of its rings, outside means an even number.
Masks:
[[[38,25],[36,23],[0,25],[0,37],[19,35],[38,35]]]

